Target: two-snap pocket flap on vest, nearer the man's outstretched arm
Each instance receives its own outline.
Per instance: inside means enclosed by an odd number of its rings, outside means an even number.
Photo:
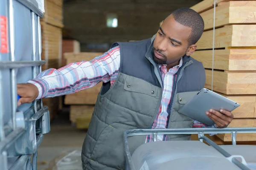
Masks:
[[[146,82],[143,79],[127,76],[125,79],[124,89],[126,91],[147,94],[149,96],[156,97],[160,88],[151,85],[149,82]]]

